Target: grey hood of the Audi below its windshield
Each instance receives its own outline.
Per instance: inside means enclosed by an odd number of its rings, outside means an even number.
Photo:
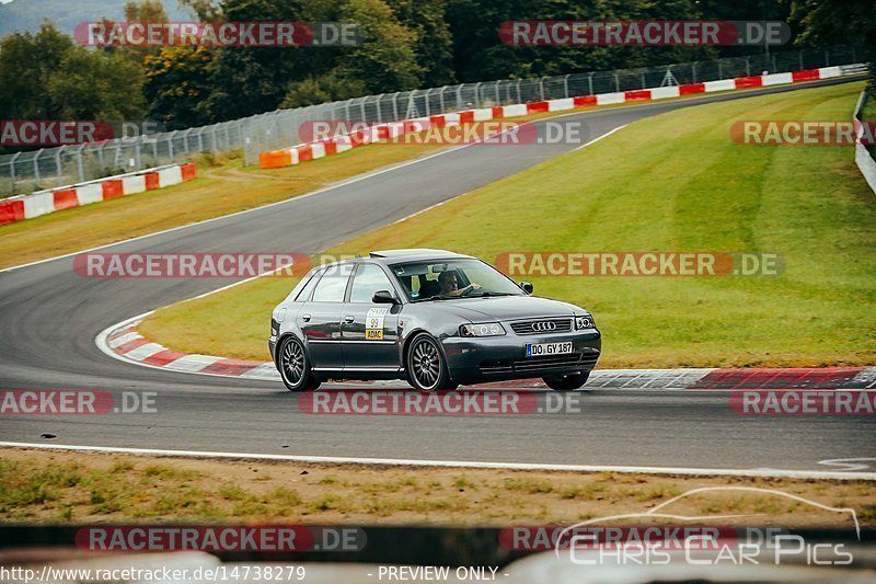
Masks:
[[[538,296],[499,296],[496,298],[460,298],[458,300],[435,300],[441,309],[450,309],[472,322],[496,320],[518,320],[537,317],[570,317],[586,312],[584,309]]]

